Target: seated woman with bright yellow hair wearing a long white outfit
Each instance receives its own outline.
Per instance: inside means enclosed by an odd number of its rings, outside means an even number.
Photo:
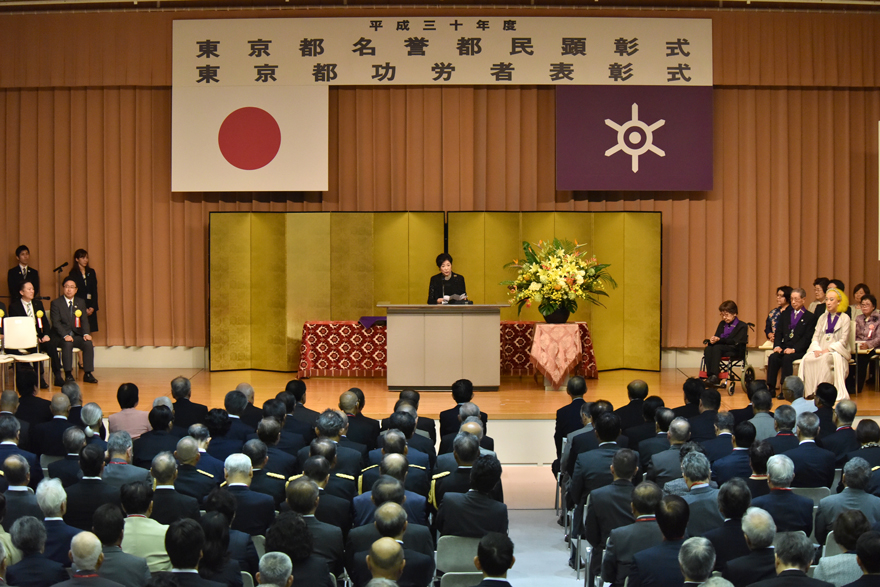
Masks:
[[[851,321],[846,314],[849,300],[836,287],[825,292],[826,311],[819,316],[813,342],[801,360],[798,376],[804,380],[807,399],[816,393],[820,383],[837,388],[837,401],[849,399],[846,375],[849,371]]]

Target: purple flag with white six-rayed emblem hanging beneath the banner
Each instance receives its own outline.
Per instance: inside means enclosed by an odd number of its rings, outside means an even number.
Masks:
[[[711,86],[557,86],[556,189],[712,189]]]

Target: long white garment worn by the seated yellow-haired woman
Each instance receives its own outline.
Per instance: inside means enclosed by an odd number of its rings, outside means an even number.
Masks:
[[[825,333],[828,325],[828,312],[819,317],[816,324],[816,332],[813,333],[813,342],[801,360],[798,377],[804,380],[804,394],[809,396],[816,393],[816,387],[820,383],[832,383],[837,388],[837,401],[849,399],[846,391],[846,375],[849,372],[849,331],[851,321],[845,312],[837,314],[837,324],[831,335]],[[831,352],[817,357],[813,351]],[[834,370],[832,371],[832,366]]]

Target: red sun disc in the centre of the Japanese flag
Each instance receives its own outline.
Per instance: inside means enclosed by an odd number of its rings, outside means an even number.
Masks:
[[[248,171],[265,167],[281,148],[281,128],[263,110],[239,108],[223,120],[217,136],[220,152],[231,165]]]

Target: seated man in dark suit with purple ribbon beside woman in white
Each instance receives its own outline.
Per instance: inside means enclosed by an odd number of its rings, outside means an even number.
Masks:
[[[776,393],[778,374],[782,373],[782,380],[793,375],[794,362],[804,358],[813,340],[816,316],[804,308],[806,295],[799,287],[792,289],[791,305],[782,311],[776,323],[773,353],[767,359],[767,387],[773,393]]]

